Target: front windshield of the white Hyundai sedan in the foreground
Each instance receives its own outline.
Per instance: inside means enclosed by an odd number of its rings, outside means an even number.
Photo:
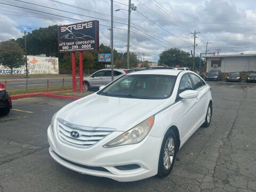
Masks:
[[[98,92],[100,95],[137,99],[166,99],[171,96],[176,76],[125,75]]]

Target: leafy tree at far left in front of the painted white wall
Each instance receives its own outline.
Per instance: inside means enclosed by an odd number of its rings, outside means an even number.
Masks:
[[[0,63],[11,69],[19,68],[26,64],[25,52],[14,39],[0,42]]]

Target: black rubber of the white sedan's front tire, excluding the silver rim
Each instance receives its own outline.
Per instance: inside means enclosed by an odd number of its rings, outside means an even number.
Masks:
[[[164,168],[164,164],[163,164],[163,161],[164,161],[164,147],[165,147],[165,143],[167,141],[167,139],[169,137],[172,137],[174,139],[174,156],[173,156],[173,161],[172,161],[172,164],[169,168],[169,170],[166,170]],[[178,147],[178,143],[177,143],[177,138],[176,138],[176,135],[175,133],[173,132],[172,129],[169,129],[165,135],[164,135],[164,139],[163,139],[163,142],[162,142],[162,146],[161,146],[161,150],[160,150],[160,154],[159,154],[159,160],[158,160],[158,172],[157,172],[157,175],[158,177],[166,177],[167,175],[170,174],[170,172],[172,171],[172,167],[174,165],[174,162],[175,162],[175,157],[176,157],[176,154],[177,154],[177,149]]]

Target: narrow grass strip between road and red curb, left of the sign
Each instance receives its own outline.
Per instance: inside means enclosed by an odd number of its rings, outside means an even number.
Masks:
[[[61,91],[61,86],[52,86],[49,87],[48,91]],[[72,89],[72,85],[64,85],[63,86],[63,90],[70,90]],[[10,95],[16,95],[16,94],[26,94],[26,90],[22,89],[22,90],[7,90],[7,92]],[[45,87],[39,87],[39,88],[34,88],[34,89],[28,89],[28,93],[40,93],[40,92],[46,92],[46,88]]]

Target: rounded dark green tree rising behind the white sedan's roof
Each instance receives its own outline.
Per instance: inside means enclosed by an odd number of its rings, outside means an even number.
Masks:
[[[190,54],[186,51],[171,48],[163,51],[159,55],[159,62],[170,67],[175,67],[176,65],[179,65],[180,67],[187,67],[189,64],[189,56]]]

